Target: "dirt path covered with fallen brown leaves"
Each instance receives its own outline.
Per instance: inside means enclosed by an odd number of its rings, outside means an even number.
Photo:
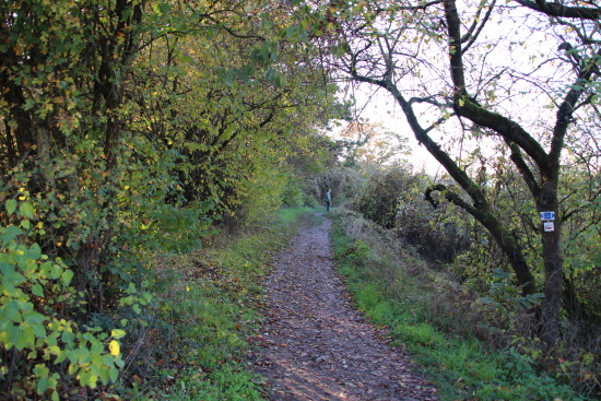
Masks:
[[[268,280],[258,373],[270,400],[437,400],[350,305],[330,256],[331,221],[305,227]]]

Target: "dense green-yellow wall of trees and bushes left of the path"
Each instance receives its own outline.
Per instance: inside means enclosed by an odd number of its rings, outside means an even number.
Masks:
[[[298,192],[288,161],[319,163],[335,90],[279,4],[0,11],[0,393],[92,394],[148,325],[152,252]]]

